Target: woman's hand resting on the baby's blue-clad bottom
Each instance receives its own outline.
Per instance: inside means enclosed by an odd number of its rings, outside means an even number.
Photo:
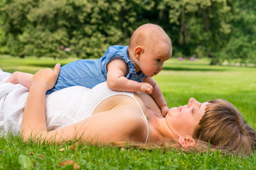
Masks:
[[[48,91],[52,89],[57,81],[57,77],[60,72],[60,63],[57,63],[52,71],[52,69],[40,69],[36,72],[31,81],[31,86],[41,86]]]

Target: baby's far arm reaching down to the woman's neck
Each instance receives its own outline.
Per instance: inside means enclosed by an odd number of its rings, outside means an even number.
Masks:
[[[143,82],[147,82],[152,85],[154,90],[152,91],[152,94],[150,94],[150,96],[152,96],[154,101],[157,103],[157,106],[161,109],[162,115],[165,117],[165,115],[169,111],[169,108],[165,101],[165,97],[162,95],[160,86],[158,86],[157,82],[152,77],[147,77],[143,79]]]

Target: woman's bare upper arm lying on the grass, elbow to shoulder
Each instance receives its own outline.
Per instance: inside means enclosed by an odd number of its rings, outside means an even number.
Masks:
[[[111,111],[96,113],[79,123],[40,136],[48,142],[79,140],[91,144],[145,142],[146,137],[147,123],[136,104],[118,106]]]

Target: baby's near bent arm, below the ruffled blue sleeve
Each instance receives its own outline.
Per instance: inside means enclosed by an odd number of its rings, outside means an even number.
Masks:
[[[152,93],[152,86],[150,84],[146,82],[139,83],[125,77],[128,67],[123,60],[116,59],[109,62],[107,69],[108,74],[106,81],[109,89],[114,91],[143,91],[148,94]]]

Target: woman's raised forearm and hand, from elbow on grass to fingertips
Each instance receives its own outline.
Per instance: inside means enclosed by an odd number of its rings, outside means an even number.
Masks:
[[[32,77],[21,123],[21,135],[24,139],[47,132],[45,123],[45,92],[52,89],[59,72],[60,64],[56,64],[53,71],[49,68],[42,69]]]

